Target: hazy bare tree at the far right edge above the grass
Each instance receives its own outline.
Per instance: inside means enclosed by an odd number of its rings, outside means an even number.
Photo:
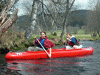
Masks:
[[[94,1],[92,1],[94,2]],[[87,28],[89,29],[91,36],[95,37],[97,34],[100,36],[100,0],[97,1],[96,6],[91,12],[88,12]]]

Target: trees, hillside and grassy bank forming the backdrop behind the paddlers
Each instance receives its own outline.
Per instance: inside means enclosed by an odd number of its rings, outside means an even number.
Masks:
[[[45,3],[46,1],[48,4]],[[6,19],[4,15],[3,19],[0,19],[1,34],[3,32],[2,25],[12,15],[9,13],[15,11],[13,9],[16,9],[15,5],[18,0],[15,0],[12,7],[9,8],[11,2],[12,0],[1,0],[0,2],[0,13],[3,13],[2,10],[6,6],[9,9]],[[25,49],[32,45],[34,36],[40,37],[40,31],[46,31],[48,38],[55,44],[63,44],[66,41],[67,33],[72,33],[80,40],[99,40],[100,0],[91,10],[77,10],[79,6],[75,6],[74,2],[75,0],[24,1],[23,6],[27,14],[19,16],[11,24],[12,27],[4,30],[0,39],[0,48],[9,50]],[[91,2],[94,2],[94,0],[89,2],[91,6]]]

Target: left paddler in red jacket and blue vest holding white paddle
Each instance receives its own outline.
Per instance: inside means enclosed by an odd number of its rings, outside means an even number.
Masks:
[[[54,43],[52,43],[48,37],[46,36],[46,32],[42,31],[40,32],[41,37],[38,38],[39,42],[41,43],[41,45],[47,50],[48,48],[52,48],[55,46]],[[43,51],[43,47],[40,45],[40,43],[37,41],[36,37],[34,37],[35,41],[34,44],[37,44],[38,47],[29,47],[28,51]]]

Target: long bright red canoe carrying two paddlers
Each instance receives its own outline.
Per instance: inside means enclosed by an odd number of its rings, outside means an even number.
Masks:
[[[47,50],[49,53],[49,50]],[[80,49],[52,49],[51,58],[58,57],[76,57],[92,54],[94,49],[92,47],[80,48]],[[26,52],[9,52],[5,56],[6,59],[44,59],[49,58],[45,51],[26,51]]]

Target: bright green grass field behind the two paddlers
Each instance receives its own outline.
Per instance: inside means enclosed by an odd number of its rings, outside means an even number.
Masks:
[[[57,30],[57,31],[56,31],[57,36],[51,35],[50,32],[47,32],[47,37],[48,37],[48,39],[60,38],[61,32],[62,32],[61,30]],[[73,34],[73,31],[72,31],[71,33],[72,33],[72,35],[74,35],[77,39],[91,39],[91,40],[100,39],[99,36],[97,36],[97,37],[91,37],[91,34],[85,34],[83,29],[78,30],[78,33],[77,33],[77,34]],[[35,36],[36,36],[37,38],[39,38],[41,35],[33,35],[32,38],[30,39],[30,41],[33,41]],[[64,34],[64,40],[66,40],[66,38],[67,38],[67,33]]]

